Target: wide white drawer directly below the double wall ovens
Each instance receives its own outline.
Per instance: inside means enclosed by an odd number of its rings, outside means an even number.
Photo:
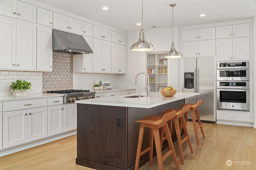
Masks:
[[[244,113],[218,113],[217,112],[217,119],[228,120],[228,121],[243,121],[243,122],[250,122],[250,115]]]

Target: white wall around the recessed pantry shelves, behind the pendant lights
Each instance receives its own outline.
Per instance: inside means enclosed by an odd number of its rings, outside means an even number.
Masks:
[[[130,47],[134,42],[138,41],[138,32],[127,33],[127,73],[119,75],[119,87],[134,87],[136,93],[145,92],[146,76],[139,75],[138,84],[135,85],[135,76],[139,72],[146,72],[146,52],[131,51]],[[172,43],[171,28],[152,28],[145,30],[144,36],[146,40],[153,44],[154,51],[169,51]],[[177,42],[177,43],[175,43]],[[174,28],[174,43],[178,49],[178,28]],[[153,51],[153,52],[154,52]],[[149,51],[152,52],[152,51]],[[168,59],[168,85],[178,87],[178,61],[179,59]],[[172,66],[172,67],[171,67]]]

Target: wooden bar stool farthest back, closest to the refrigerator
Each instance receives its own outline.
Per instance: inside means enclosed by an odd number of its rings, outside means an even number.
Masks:
[[[198,139],[197,130],[199,128],[201,129],[203,138],[205,138],[204,130],[203,130],[202,123],[201,123],[201,120],[200,120],[200,115],[199,115],[199,112],[198,112],[198,106],[202,105],[202,103],[203,103],[203,100],[200,100],[200,101],[197,102],[197,104],[185,103],[185,104],[181,105],[181,107],[190,105],[190,112],[191,112],[191,117],[192,117],[192,121],[193,121],[194,131],[195,131],[195,134],[196,134],[196,142],[197,142],[198,146],[199,146],[199,139]],[[195,117],[195,113],[196,113],[196,117]],[[188,115],[188,112],[185,113],[186,119],[187,119],[187,115]],[[198,124],[199,124],[198,126],[196,125],[196,118],[197,118],[197,121],[198,121]],[[186,123],[187,123],[187,120],[186,120]]]

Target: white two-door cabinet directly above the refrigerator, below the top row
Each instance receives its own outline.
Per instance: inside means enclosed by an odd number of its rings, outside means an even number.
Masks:
[[[214,56],[215,54],[215,40],[182,43],[182,55],[184,57]]]

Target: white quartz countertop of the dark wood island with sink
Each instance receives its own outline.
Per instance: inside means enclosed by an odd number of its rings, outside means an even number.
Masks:
[[[127,96],[133,96],[141,94],[141,98],[128,98]],[[150,97],[146,96],[146,93],[135,93],[116,97],[102,97],[97,99],[88,99],[82,101],[76,101],[81,104],[91,105],[106,105],[106,106],[121,106],[121,107],[137,107],[137,108],[151,108],[160,106],[166,103],[171,103],[188,97],[199,95],[199,93],[181,93],[177,92],[172,97],[165,97],[160,92],[150,92]]]

